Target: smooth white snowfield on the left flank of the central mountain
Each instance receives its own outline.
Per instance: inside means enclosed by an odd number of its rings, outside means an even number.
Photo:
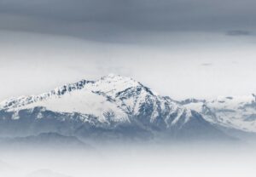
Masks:
[[[60,88],[55,88],[49,93],[4,100],[0,103],[0,107],[9,111],[19,111],[42,106],[50,111],[92,114],[99,117],[101,121],[104,121],[104,112],[114,111],[117,114],[116,117],[119,119],[127,119],[125,112],[115,103],[108,101],[107,97],[96,93],[100,90],[106,90],[106,93],[108,93],[108,88],[113,87],[113,89],[118,90],[122,86],[122,83],[119,83],[113,77],[111,82],[113,85],[107,87],[110,78],[111,75],[102,77],[97,82],[83,80],[79,83],[67,84]]]

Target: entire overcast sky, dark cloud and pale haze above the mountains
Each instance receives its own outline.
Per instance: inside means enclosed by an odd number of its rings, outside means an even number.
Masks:
[[[0,100],[110,72],[175,99],[256,93],[255,9],[253,0],[0,0]]]

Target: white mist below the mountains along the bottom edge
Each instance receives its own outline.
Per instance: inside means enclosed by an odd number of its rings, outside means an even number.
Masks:
[[[0,174],[20,176],[253,176],[245,146],[106,146],[91,151],[1,151]],[[4,168],[4,170],[3,170]]]

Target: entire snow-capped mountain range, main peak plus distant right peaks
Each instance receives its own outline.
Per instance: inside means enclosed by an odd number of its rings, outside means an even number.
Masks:
[[[26,137],[55,133],[94,142],[236,140],[241,138],[237,132],[256,132],[255,115],[254,94],[172,100],[130,77],[109,74],[44,94],[3,100],[0,134]]]

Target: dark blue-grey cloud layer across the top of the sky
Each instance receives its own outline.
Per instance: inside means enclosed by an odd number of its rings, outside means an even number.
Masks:
[[[0,0],[0,29],[92,40],[144,31],[250,31],[255,8],[253,0]]]

